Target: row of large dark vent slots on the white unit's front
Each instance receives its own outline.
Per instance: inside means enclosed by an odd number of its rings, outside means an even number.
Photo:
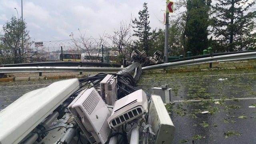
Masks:
[[[131,119],[133,119],[134,117],[136,117],[138,115],[140,116],[142,114],[143,114],[142,109],[136,108],[136,109],[130,110],[130,111],[118,116],[117,118],[113,119],[110,123],[112,123],[112,126],[116,126],[123,122],[128,122]]]

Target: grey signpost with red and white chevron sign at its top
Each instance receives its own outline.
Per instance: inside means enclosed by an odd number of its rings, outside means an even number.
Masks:
[[[169,12],[173,13],[173,2],[167,0],[166,1],[165,37],[164,37],[164,63],[168,62]]]

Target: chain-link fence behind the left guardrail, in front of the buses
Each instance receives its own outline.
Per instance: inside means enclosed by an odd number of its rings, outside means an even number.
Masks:
[[[103,48],[103,52],[102,52]],[[79,54],[79,59],[82,60],[81,54],[88,54],[102,57],[102,55],[116,55],[115,52],[110,52],[108,46],[99,45],[98,43],[90,44],[85,46],[82,43],[75,43],[74,40],[60,40],[60,41],[45,41],[45,42],[35,42],[29,48],[28,46],[24,50],[17,52],[18,54],[14,56],[11,51],[1,51],[0,50],[0,64],[13,64],[14,59],[18,59],[19,63],[30,63],[30,62],[56,62],[62,61],[63,55]],[[72,58],[68,60],[73,60]],[[76,58],[76,61],[80,61]]]

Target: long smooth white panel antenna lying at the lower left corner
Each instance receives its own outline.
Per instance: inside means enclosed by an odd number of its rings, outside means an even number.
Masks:
[[[0,144],[17,144],[73,92],[77,78],[54,82],[33,90],[0,112]]]

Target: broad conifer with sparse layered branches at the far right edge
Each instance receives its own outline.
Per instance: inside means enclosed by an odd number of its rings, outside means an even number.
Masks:
[[[254,5],[251,0],[217,0],[213,6],[213,32],[222,51],[248,50],[255,42]]]

